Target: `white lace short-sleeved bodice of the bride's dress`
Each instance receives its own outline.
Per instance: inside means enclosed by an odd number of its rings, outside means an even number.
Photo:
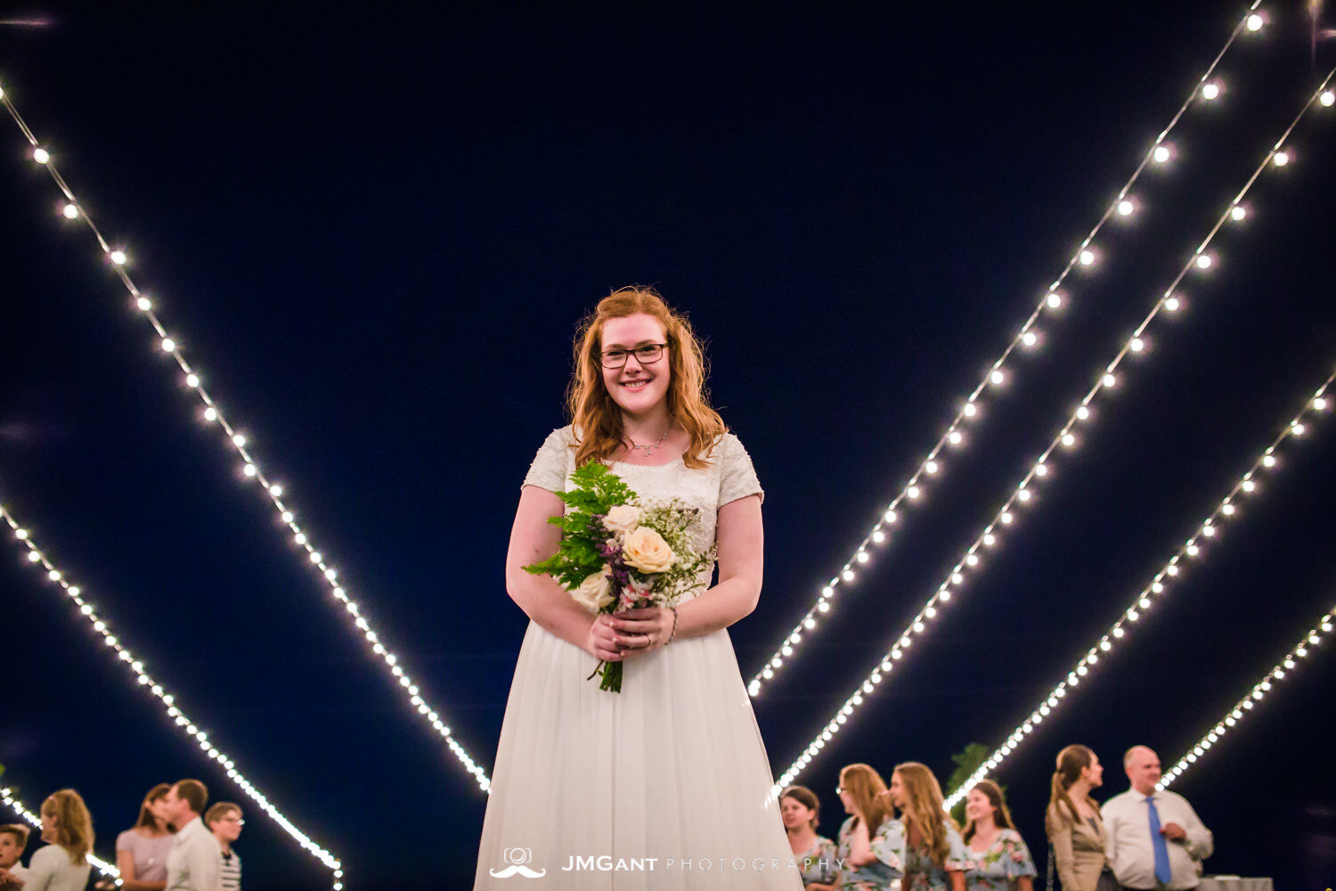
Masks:
[[[709,466],[693,470],[676,458],[664,465],[625,464],[615,461],[612,472],[621,477],[643,500],[676,498],[700,510],[692,526],[695,544],[705,550],[715,544],[719,508],[745,498],[766,497],[752,468],[747,449],[731,433],[720,437],[708,456]],[[548,492],[565,492],[576,470],[576,442],[569,426],[553,430],[524,477],[524,485]],[[699,589],[709,585],[713,565],[697,577]]]

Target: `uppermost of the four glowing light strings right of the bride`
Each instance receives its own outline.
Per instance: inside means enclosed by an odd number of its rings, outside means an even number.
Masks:
[[[1133,216],[1138,211],[1138,202],[1133,192],[1133,187],[1141,179],[1142,172],[1146,167],[1154,166],[1161,167],[1170,162],[1174,155],[1173,144],[1169,142],[1169,134],[1177,127],[1178,122],[1182,119],[1184,114],[1193,107],[1196,103],[1212,103],[1221,96],[1222,85],[1220,80],[1214,79],[1216,68],[1218,68],[1220,61],[1224,59],[1225,53],[1240,37],[1240,35],[1260,31],[1264,19],[1257,13],[1257,8],[1261,5],[1261,0],[1255,0],[1249,5],[1246,15],[1240,20],[1238,25],[1234,27],[1225,45],[1212,60],[1206,72],[1193,84],[1192,92],[1180,106],[1177,114],[1169,120],[1169,124],[1156,136],[1150,148],[1142,156],[1141,163],[1124,183],[1122,188],[1118,190],[1113,202],[1100,216],[1098,222],[1090,230],[1090,232],[1081,240],[1075,252],[1067,259],[1066,266],[1053,281],[1051,285],[1043,291],[1039,302],[1035,305],[1034,311],[1030,313],[1021,329],[1011,337],[1010,343],[1002,350],[1002,354],[993,361],[989,370],[985,373],[983,379],[974,387],[974,390],[965,398],[961,407],[957,410],[955,417],[942,431],[937,443],[929,450],[927,457],[918,465],[914,473],[910,474],[908,482],[900,489],[900,492],[886,505],[880,517],[868,529],[867,534],[858,544],[858,548],[850,556],[835,576],[827,581],[822,589],[818,592],[815,601],[807,608],[807,612],[798,621],[796,625],[784,637],[784,641],[771,653],[760,671],[758,671],[747,688],[752,696],[759,696],[762,688],[771,680],[775,675],[788,664],[795,656],[799,647],[803,644],[806,637],[814,632],[822,621],[822,617],[830,613],[831,608],[835,605],[836,594],[840,588],[854,582],[858,573],[871,561],[872,552],[886,548],[891,536],[899,528],[900,513],[907,508],[916,504],[922,504],[922,500],[929,494],[930,488],[934,482],[943,478],[943,470],[946,468],[946,456],[951,453],[959,453],[961,450],[969,448],[969,441],[966,437],[966,430],[971,426],[977,426],[978,421],[982,418],[982,406],[986,397],[991,395],[998,387],[1007,383],[1007,373],[1011,370],[1013,355],[1017,353],[1023,353],[1034,350],[1041,346],[1043,341],[1043,321],[1058,313],[1061,313],[1067,303],[1070,303],[1070,295],[1063,291],[1062,286],[1067,277],[1078,269],[1086,269],[1094,266],[1101,259],[1101,248],[1094,243],[1096,236],[1104,230],[1105,224],[1110,220],[1125,219]]]

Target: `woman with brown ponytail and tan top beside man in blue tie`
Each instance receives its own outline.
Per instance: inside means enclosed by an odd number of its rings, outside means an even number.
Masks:
[[[1104,854],[1106,835],[1090,789],[1104,784],[1104,767],[1085,745],[1058,752],[1043,828],[1053,846],[1062,891],[1110,891],[1117,883]]]

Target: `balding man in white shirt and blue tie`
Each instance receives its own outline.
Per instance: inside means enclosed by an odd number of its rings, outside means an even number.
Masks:
[[[1214,839],[1181,795],[1157,788],[1160,757],[1134,745],[1122,757],[1132,788],[1100,808],[1113,875],[1124,888],[1188,891],[1201,876],[1201,860]]]

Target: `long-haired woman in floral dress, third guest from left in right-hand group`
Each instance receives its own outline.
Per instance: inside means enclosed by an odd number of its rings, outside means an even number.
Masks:
[[[887,797],[900,816],[872,840],[882,863],[903,872],[903,891],[965,891],[970,855],[955,820],[942,807],[942,787],[918,761],[895,767]]]

